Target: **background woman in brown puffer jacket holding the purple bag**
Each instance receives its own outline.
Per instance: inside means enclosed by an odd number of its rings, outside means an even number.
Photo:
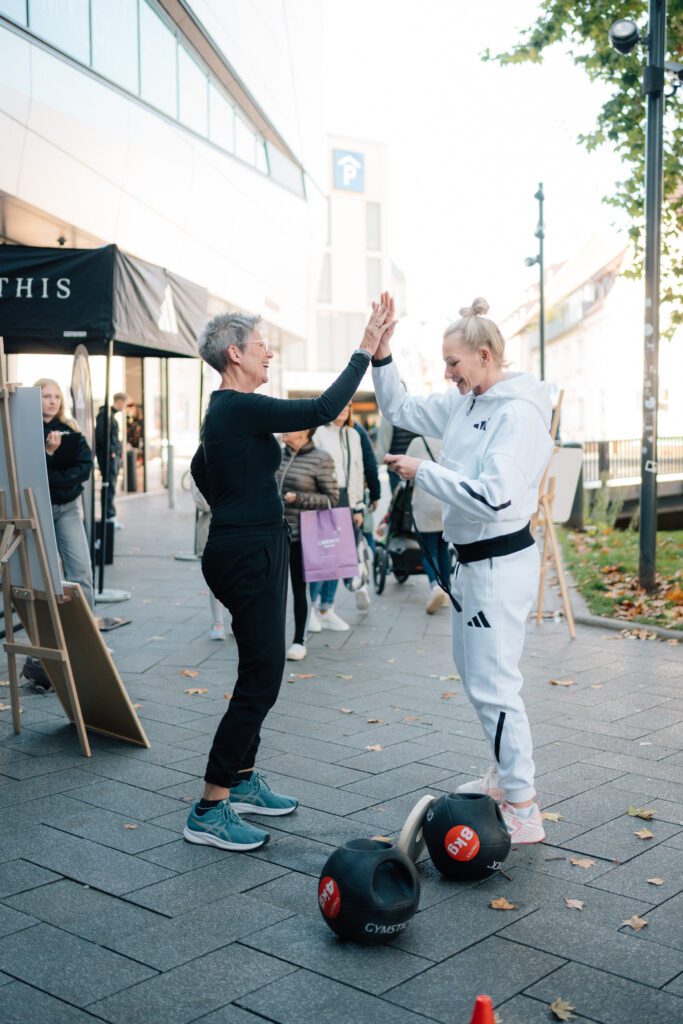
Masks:
[[[300,517],[305,510],[327,509],[339,501],[339,484],[331,455],[316,449],[311,438],[315,430],[283,434],[285,451],[278,472],[278,484],[285,502],[285,518],[292,530],[290,580],[294,597],[294,643],[287,651],[290,662],[306,656],[308,598],[303,578]],[[311,612],[312,615],[312,612]],[[309,624],[309,630],[312,623]],[[313,629],[311,632],[318,632]]]

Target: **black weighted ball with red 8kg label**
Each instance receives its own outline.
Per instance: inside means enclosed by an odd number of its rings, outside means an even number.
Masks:
[[[434,866],[457,882],[488,878],[510,853],[501,809],[482,793],[440,797],[427,811],[424,835]]]

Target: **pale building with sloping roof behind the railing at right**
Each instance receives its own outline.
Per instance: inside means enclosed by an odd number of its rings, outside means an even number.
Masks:
[[[625,275],[623,238],[595,236],[546,276],[546,379],[564,390],[565,440],[637,438],[642,429],[644,288]],[[683,332],[661,306],[659,436],[683,434]],[[513,370],[539,373],[539,290],[501,325]]]

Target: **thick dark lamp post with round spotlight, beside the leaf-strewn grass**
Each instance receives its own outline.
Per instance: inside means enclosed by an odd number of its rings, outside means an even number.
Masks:
[[[665,70],[677,73],[677,66],[665,65],[667,0],[649,0],[647,65],[643,92],[647,97],[645,146],[645,330],[643,365],[643,433],[640,482],[639,581],[645,590],[654,589],[657,530],[657,404],[659,399],[659,256],[661,251],[661,187]],[[609,41],[620,53],[630,53],[645,42],[638,26],[621,18],[609,29]]]

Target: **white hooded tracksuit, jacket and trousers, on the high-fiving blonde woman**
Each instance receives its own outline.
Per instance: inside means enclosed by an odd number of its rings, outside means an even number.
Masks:
[[[423,462],[416,483],[444,503],[443,535],[471,544],[522,529],[537,510],[552,453],[548,388],[530,374],[506,374],[482,395],[455,388],[407,394],[395,364],[373,370],[380,410],[391,423],[442,437],[438,464]],[[539,585],[536,546],[459,564],[452,593],[453,652],[465,691],[488,737],[508,800],[535,796],[531,735],[519,660]]]

